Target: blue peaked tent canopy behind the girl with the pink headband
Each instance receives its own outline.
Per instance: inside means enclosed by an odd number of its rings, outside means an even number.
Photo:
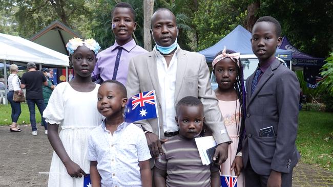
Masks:
[[[198,53],[206,57],[207,62],[212,62],[215,55],[222,51],[224,46],[227,49],[240,52],[240,54],[253,54],[251,47],[251,33],[244,29],[242,26],[238,25],[232,32],[227,34],[219,42],[207,48],[205,50],[199,51]],[[277,49],[276,56],[283,60],[291,60],[292,53],[290,51]]]

